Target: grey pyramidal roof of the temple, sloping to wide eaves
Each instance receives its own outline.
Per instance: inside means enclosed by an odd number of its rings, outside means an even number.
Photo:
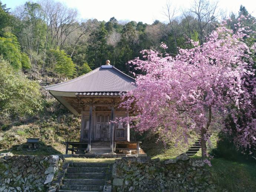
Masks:
[[[60,91],[60,92],[76,92],[76,93],[113,93],[127,92],[133,89],[135,86],[131,83],[135,82],[135,79],[119,71],[113,66],[103,65],[92,72],[86,73],[83,76],[75,79],[50,85],[44,87],[45,90]],[[86,93],[86,94],[87,94]]]

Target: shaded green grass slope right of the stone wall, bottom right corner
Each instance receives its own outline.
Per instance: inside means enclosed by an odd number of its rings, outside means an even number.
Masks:
[[[223,158],[211,160],[209,168],[217,191],[253,192],[256,190],[256,163],[234,162]]]

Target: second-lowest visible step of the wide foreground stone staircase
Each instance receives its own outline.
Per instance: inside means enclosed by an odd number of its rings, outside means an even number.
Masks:
[[[63,179],[64,185],[104,185],[105,179]]]

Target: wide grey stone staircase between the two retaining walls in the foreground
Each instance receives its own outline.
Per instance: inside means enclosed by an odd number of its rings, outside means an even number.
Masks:
[[[102,192],[111,170],[109,163],[70,163],[59,192]]]

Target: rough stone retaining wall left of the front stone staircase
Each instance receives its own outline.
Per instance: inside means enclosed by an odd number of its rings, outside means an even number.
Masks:
[[[0,191],[46,191],[62,164],[57,155],[0,156]]]

